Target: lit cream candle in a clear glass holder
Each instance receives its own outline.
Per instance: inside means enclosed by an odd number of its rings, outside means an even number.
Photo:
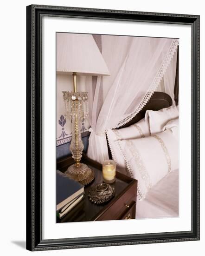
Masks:
[[[115,182],[116,163],[113,160],[106,160],[102,163],[102,177],[103,182],[113,183]]]

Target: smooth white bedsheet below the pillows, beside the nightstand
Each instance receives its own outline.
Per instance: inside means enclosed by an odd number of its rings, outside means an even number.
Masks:
[[[143,201],[137,200],[136,219],[179,216],[179,170],[155,184]]]

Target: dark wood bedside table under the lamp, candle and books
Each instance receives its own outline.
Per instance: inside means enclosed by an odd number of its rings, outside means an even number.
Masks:
[[[85,186],[83,200],[61,220],[57,218],[57,223],[135,219],[137,180],[117,172],[116,168],[116,180],[110,184],[115,187],[115,197],[103,205],[96,205],[89,201],[88,191],[91,186],[102,182],[102,164],[89,159],[84,154],[81,162],[86,163],[95,171],[95,180]],[[57,161],[57,169],[65,172],[72,163],[74,163],[72,157],[66,157]]]

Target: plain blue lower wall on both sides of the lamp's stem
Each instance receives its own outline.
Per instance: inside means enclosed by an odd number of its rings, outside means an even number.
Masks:
[[[83,145],[84,145],[83,152],[85,152],[85,153],[87,152],[87,149],[88,149],[89,136],[90,136],[90,133],[89,133],[89,135],[82,136],[82,141],[83,141]],[[64,158],[66,156],[69,156],[69,155],[71,155],[70,142],[56,147],[56,159],[57,160]]]

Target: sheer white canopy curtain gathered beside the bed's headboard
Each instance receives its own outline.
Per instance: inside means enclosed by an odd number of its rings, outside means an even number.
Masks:
[[[92,79],[93,86],[87,87],[91,125],[87,155],[102,163],[109,159],[106,129],[121,127],[146,105],[172,61],[179,40],[113,35],[94,39],[111,74]]]

